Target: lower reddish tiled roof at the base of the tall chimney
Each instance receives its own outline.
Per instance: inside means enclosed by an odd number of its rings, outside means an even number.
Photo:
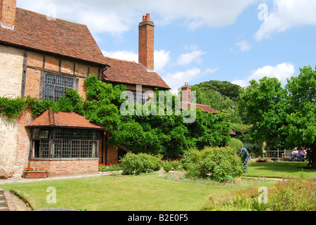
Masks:
[[[104,72],[105,79],[109,82],[170,89],[156,72],[147,71],[139,63],[109,57],[105,57],[105,61],[107,65],[111,66],[111,68]]]

